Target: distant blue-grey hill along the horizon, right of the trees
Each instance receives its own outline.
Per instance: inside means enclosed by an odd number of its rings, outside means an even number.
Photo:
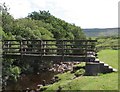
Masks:
[[[118,28],[93,28],[93,29],[82,29],[86,36],[88,37],[98,37],[98,36],[113,36],[118,35]]]

